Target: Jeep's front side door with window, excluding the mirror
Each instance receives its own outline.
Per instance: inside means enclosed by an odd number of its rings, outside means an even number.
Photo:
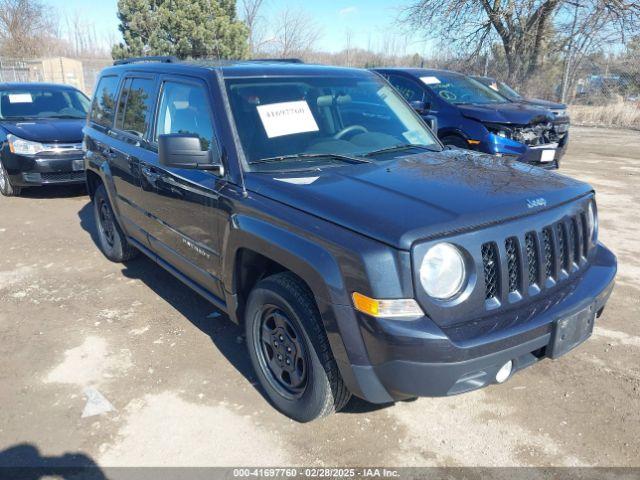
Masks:
[[[203,150],[217,142],[207,84],[189,77],[160,82],[151,148],[159,135],[190,133]],[[220,150],[221,151],[221,150]],[[167,168],[157,154],[141,164],[144,205],[154,220],[149,241],[166,262],[201,287],[223,298],[220,283],[220,231],[226,218],[220,192],[227,181],[202,170]]]

